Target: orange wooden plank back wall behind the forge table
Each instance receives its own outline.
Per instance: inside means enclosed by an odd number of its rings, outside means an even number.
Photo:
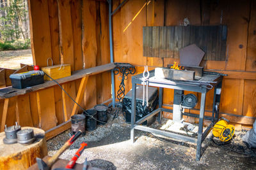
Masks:
[[[121,1],[113,1],[113,10]],[[222,116],[238,123],[237,128],[251,127],[255,120],[253,117],[256,117],[255,9],[256,2],[252,0],[129,0],[113,16],[115,62],[130,62],[136,66],[138,73],[143,71],[142,66],[146,64],[154,69],[166,67],[173,61],[179,62],[177,51],[173,52],[174,58],[143,57],[143,26],[182,25],[184,18],[188,18],[191,25],[227,25],[226,60],[207,60],[202,62],[202,66],[207,70],[228,74],[224,78],[221,94]],[[118,75],[115,78],[118,87]],[[131,89],[130,77],[125,81],[125,89],[126,92]],[[205,106],[209,111],[212,95],[213,90],[207,94]],[[199,94],[196,96],[200,99]],[[172,100],[173,90],[164,89],[164,105],[172,107]],[[193,112],[198,113],[198,110]],[[172,117],[172,114],[166,113],[164,116]]]

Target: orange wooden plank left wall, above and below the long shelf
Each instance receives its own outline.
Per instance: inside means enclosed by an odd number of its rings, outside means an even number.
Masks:
[[[110,62],[106,1],[28,0],[28,4],[34,64],[47,66],[47,59],[51,58],[54,64],[71,64],[72,71],[76,71]],[[1,78],[9,72],[13,73],[12,70],[1,69]],[[7,81],[8,86],[10,82]],[[80,81],[61,86],[75,98]],[[110,98],[110,73],[102,73],[90,76],[80,104],[83,108],[92,108]],[[56,85],[6,101],[1,99],[0,121],[7,117],[8,126],[18,120],[22,126],[41,127],[47,131],[66,122],[73,106],[67,94]],[[79,109],[79,113],[81,111]]]

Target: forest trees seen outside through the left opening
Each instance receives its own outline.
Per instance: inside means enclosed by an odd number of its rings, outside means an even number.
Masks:
[[[27,0],[0,0],[0,50],[30,47]]]

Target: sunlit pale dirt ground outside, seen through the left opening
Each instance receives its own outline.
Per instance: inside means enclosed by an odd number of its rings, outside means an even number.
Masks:
[[[31,49],[0,52],[0,67],[19,69],[20,63],[33,65]]]

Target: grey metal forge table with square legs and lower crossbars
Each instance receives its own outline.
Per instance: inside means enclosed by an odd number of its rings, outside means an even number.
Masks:
[[[204,75],[198,81],[190,81],[190,82],[189,81],[172,81],[172,80],[166,80],[164,78],[155,78],[154,70],[150,71],[150,77],[147,79],[147,81],[148,81],[149,86],[159,87],[159,108],[152,111],[151,113],[149,113],[145,117],[141,118],[140,120],[135,121],[136,86],[137,86],[137,84],[143,85],[142,77],[143,77],[142,74],[132,76],[132,114],[131,114],[131,141],[132,141],[132,143],[134,143],[134,130],[135,129],[140,130],[140,131],[145,131],[145,132],[152,132],[152,133],[167,136],[170,138],[181,139],[184,141],[189,141],[189,142],[197,144],[196,160],[200,160],[202,142],[207,137],[207,135],[211,131],[212,125],[218,120],[218,117],[219,117],[218,106],[220,104],[220,92],[216,93],[216,90],[221,89],[221,83],[222,83],[223,76],[218,73],[204,72]],[[211,83],[208,83],[209,85],[202,83],[205,81],[211,81]],[[159,120],[159,123],[161,123],[162,111],[172,113],[172,110],[162,108],[162,106],[163,106],[163,88],[175,89],[175,90],[187,90],[187,91],[201,93],[200,115],[196,115],[193,113],[182,113],[182,115],[199,118],[197,139],[191,138],[189,136],[184,136],[182,134],[166,132],[166,131],[162,131],[159,129],[154,129],[151,127],[146,127],[146,126],[140,125],[143,122],[145,122],[146,120],[148,120],[148,118],[153,117],[157,113],[159,113],[158,120]],[[212,88],[214,88],[212,117],[205,117],[205,115],[204,115],[205,97],[206,97],[206,93],[209,92],[209,90],[211,90]],[[209,125],[207,127],[207,129],[205,129],[205,131],[203,132],[204,118],[211,120],[211,125]]]

